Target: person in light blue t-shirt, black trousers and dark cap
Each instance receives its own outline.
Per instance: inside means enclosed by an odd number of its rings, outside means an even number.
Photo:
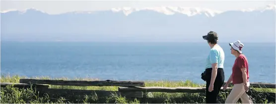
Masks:
[[[207,40],[211,50],[206,59],[206,103],[216,104],[220,88],[224,82],[224,52],[217,44],[218,36],[210,31],[203,39]]]

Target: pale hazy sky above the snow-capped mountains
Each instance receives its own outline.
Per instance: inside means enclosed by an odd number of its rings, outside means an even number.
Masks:
[[[188,6],[220,11],[264,7],[275,0],[4,0],[1,12],[36,8],[49,14],[69,11],[108,10],[114,7]]]

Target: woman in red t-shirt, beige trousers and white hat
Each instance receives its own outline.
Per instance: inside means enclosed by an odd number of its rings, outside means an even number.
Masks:
[[[246,94],[246,91],[249,90],[249,71],[247,58],[242,54],[244,45],[239,40],[229,45],[231,46],[231,54],[236,56],[236,60],[232,67],[232,74],[223,86],[223,90],[225,90],[229,83],[233,81],[234,87],[228,95],[225,104],[236,104],[239,98],[241,98],[242,103],[253,104]]]

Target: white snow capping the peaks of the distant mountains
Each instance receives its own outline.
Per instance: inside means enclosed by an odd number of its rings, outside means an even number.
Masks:
[[[9,11],[18,11],[20,13],[25,13],[27,10],[30,10],[30,9],[41,11],[41,10],[38,10],[35,8],[29,8],[29,9],[25,9],[22,11],[15,10],[15,9],[5,10],[5,11],[1,11],[1,13],[5,13],[5,12],[9,12]],[[269,4],[265,7],[259,7],[259,8],[255,8],[255,9],[253,9],[253,8],[241,9],[240,11],[250,12],[250,11],[265,11],[265,10],[275,10],[275,9],[276,9],[276,5]],[[173,15],[176,13],[186,14],[188,16],[193,16],[193,15],[197,15],[197,14],[205,14],[205,15],[211,16],[211,17],[223,12],[223,11],[212,10],[212,9],[208,9],[208,8],[178,7],[178,6],[143,7],[143,8],[120,7],[120,8],[111,8],[110,10],[113,12],[123,12],[126,16],[128,16],[129,14],[131,14],[133,12],[138,12],[138,11],[142,11],[142,10],[152,10],[152,11],[164,13],[166,15]],[[44,11],[41,11],[41,12],[46,13]],[[73,11],[73,13],[93,13],[93,12],[96,12],[96,11]]]

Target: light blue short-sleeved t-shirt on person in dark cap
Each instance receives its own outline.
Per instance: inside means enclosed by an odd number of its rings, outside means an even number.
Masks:
[[[217,63],[217,68],[223,68],[224,52],[220,46],[216,45],[210,50],[206,63],[206,69],[212,68],[213,63]]]

